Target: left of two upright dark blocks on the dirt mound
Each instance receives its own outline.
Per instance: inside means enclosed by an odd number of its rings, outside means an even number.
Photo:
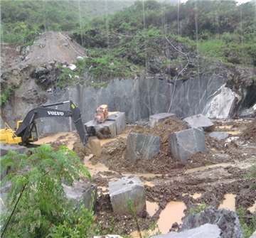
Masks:
[[[149,134],[130,133],[127,136],[125,157],[136,161],[139,158],[151,159],[160,151],[161,138]]]

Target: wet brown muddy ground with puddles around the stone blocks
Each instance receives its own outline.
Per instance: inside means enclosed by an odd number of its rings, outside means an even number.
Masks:
[[[101,156],[90,155],[90,150],[79,153],[98,185],[95,219],[107,233],[138,237],[132,216],[114,215],[110,205],[108,182],[122,175],[137,175],[144,181],[147,212],[139,217],[142,231],[149,230],[149,227],[161,233],[177,230],[182,218],[199,204],[234,211],[242,206],[247,209],[248,215],[255,212],[256,190],[252,186],[256,185],[256,180],[247,177],[256,163],[255,134],[248,131],[248,128],[253,131],[255,121],[215,121],[214,131],[228,132],[228,139],[217,141],[206,132],[207,152],[192,156],[186,165],[174,161],[166,147],[166,135],[184,129],[183,126],[181,121],[153,130],[127,126],[124,134],[117,138],[100,140]],[[124,151],[130,131],[160,135],[163,144],[160,155],[150,163],[127,163]],[[73,144],[77,145],[79,141],[75,132],[70,132],[48,136],[38,141],[38,144],[41,143],[67,144],[73,148]]]

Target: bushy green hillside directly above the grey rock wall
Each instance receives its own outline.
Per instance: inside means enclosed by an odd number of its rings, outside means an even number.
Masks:
[[[254,67],[255,26],[253,2],[192,0],[177,9],[167,3],[137,1],[102,21],[90,21],[73,37],[87,48],[92,75],[99,77],[104,69],[104,75],[125,77],[138,70],[161,73],[160,65],[164,70],[168,65],[186,65],[186,55],[176,50],[177,62],[166,52],[170,40],[211,60]]]

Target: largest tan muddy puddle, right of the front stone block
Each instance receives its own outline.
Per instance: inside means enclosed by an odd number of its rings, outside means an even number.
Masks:
[[[171,229],[171,226],[177,222],[181,224],[182,217],[184,217],[184,210],[186,210],[186,205],[181,201],[171,201],[169,202],[164,210],[161,211],[159,215],[159,220],[157,225],[159,227],[159,231],[162,234],[166,234]]]

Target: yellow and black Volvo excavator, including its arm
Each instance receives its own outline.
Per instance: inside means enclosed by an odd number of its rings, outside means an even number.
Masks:
[[[69,109],[60,110],[53,108],[63,104],[69,104]],[[0,143],[29,146],[31,142],[38,140],[36,119],[44,117],[71,117],[84,146],[87,144],[89,136],[94,134],[93,131],[88,133],[86,126],[82,123],[80,109],[72,101],[65,101],[46,104],[32,109],[26,114],[23,121],[17,121],[16,131],[6,124],[5,129],[0,129]]]

